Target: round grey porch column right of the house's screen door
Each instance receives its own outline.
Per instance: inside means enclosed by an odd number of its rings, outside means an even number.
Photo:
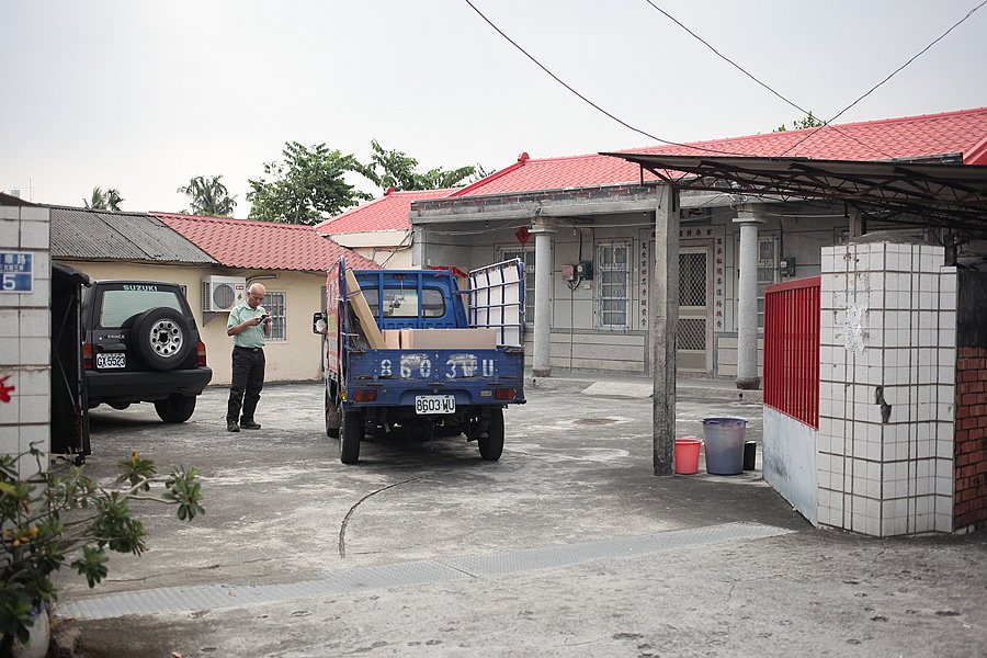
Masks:
[[[740,211],[740,284],[737,292],[737,388],[761,387],[758,376],[758,225],[764,220]]]

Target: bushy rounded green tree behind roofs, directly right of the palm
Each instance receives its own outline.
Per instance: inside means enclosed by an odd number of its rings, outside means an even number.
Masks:
[[[373,198],[344,180],[347,173],[364,170],[352,155],[325,144],[305,147],[297,141],[286,143],[282,154],[283,163],[264,164],[268,178],[248,181],[251,219],[314,225]]]

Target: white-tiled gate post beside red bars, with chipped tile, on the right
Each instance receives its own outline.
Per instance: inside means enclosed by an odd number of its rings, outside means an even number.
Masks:
[[[956,270],[942,247],[822,249],[819,523],[951,532]]]

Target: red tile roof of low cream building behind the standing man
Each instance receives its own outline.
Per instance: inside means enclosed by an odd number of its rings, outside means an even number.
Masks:
[[[360,269],[379,269],[374,261],[320,236],[310,226],[150,213],[227,268],[251,270],[328,270],[340,256]]]

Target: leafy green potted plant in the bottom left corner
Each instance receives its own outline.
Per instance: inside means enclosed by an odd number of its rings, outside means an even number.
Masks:
[[[18,464],[33,458],[37,473],[22,479]],[[129,501],[149,500],[178,508],[191,521],[205,513],[200,470],[180,467],[159,476],[152,461],[134,452],[117,464],[120,477],[104,489],[86,475],[84,466],[42,469],[43,454],[31,446],[21,455],[0,456],[0,656],[9,656],[15,640],[27,640],[33,613],[57,599],[52,574],[68,559],[89,587],[106,577],[106,549],[140,555],[144,524]]]

